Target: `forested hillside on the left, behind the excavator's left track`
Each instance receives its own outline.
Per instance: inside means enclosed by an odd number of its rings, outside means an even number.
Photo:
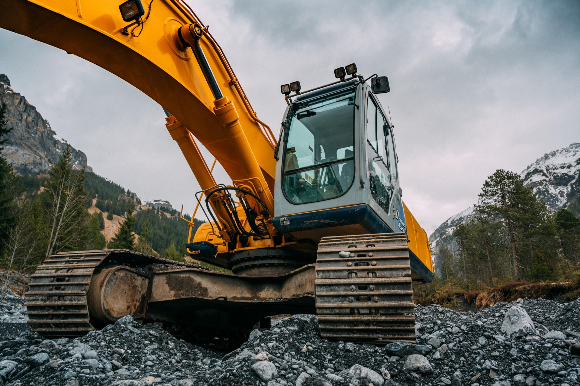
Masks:
[[[135,193],[74,166],[67,146],[48,171],[20,176],[2,157],[10,128],[0,106],[0,265],[34,272],[57,252],[127,248],[183,259],[188,225],[176,211],[140,205]],[[116,228],[111,222],[116,218]],[[190,220],[189,215],[184,218]],[[107,235],[106,225],[110,226]],[[194,219],[195,229],[202,222]],[[111,230],[113,229],[113,230]],[[194,229],[194,230],[195,230]],[[34,235],[34,237],[31,237]],[[110,237],[106,237],[110,236]],[[108,242],[107,240],[110,239]]]

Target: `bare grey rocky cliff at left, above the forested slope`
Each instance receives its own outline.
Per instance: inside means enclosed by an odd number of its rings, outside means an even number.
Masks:
[[[6,103],[6,121],[12,131],[4,145],[3,156],[20,174],[37,174],[50,169],[68,146],[66,140],[56,135],[50,124],[28,103],[24,96],[10,87],[10,80],[0,74],[0,103]],[[75,168],[92,171],[86,164],[86,155],[74,149]]]

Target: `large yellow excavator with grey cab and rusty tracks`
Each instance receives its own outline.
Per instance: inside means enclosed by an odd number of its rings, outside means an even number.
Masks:
[[[32,331],[82,336],[132,315],[235,345],[271,316],[307,313],[329,340],[415,342],[412,286],[430,282],[433,265],[401,200],[393,125],[377,98],[390,91],[387,77],[365,78],[352,63],[325,85],[282,85],[274,136],[183,1],[0,5],[0,27],[95,63],[163,107],[208,217],[195,232],[189,222],[187,253],[231,270],[129,250],[60,252],[32,275]],[[216,181],[198,144],[231,181]]]

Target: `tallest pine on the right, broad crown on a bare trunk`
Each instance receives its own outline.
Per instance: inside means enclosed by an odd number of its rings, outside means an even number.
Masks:
[[[512,248],[514,277],[521,280],[519,241],[538,218],[538,201],[530,187],[514,172],[498,169],[488,176],[478,194],[480,203],[475,205],[476,212],[489,219],[501,219],[506,225],[507,236]]]

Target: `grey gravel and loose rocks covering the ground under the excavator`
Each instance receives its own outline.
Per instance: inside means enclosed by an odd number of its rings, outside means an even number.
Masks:
[[[479,313],[416,306],[418,344],[329,342],[316,316],[273,320],[233,352],[193,345],[130,316],[70,340],[0,301],[2,385],[580,385],[580,300],[499,303]]]

